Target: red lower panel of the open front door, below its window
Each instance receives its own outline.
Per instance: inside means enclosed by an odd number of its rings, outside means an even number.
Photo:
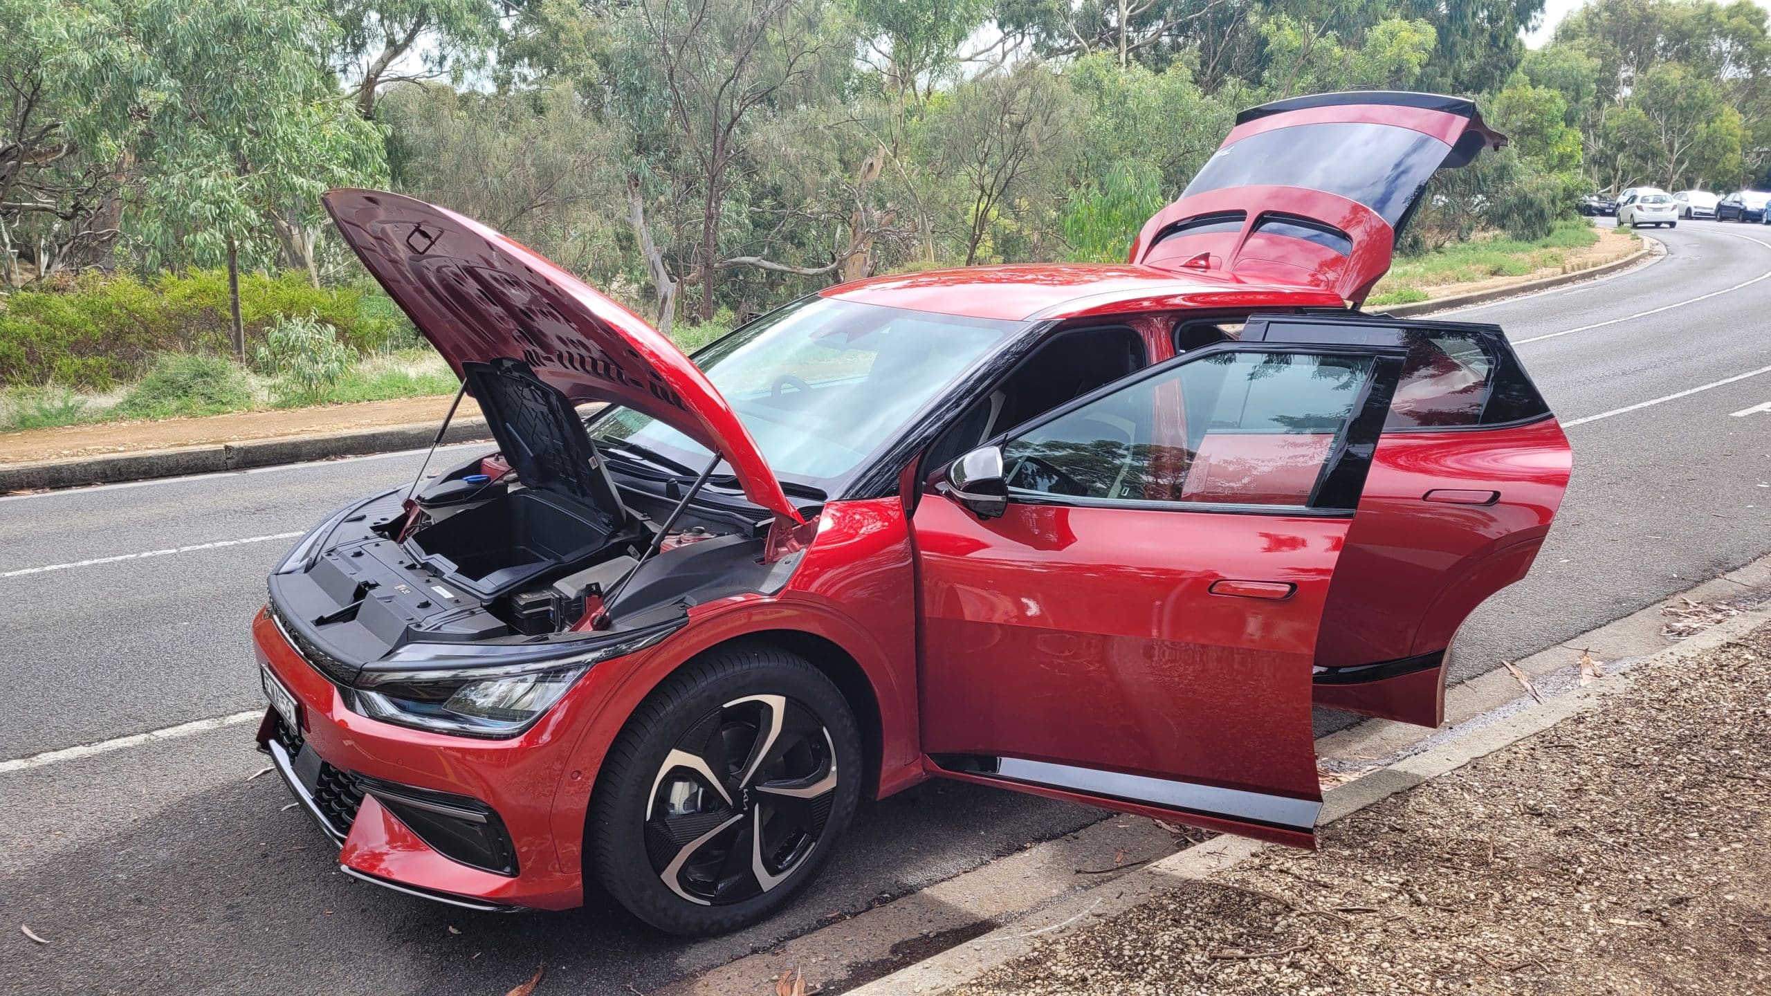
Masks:
[[[1025,503],[979,521],[924,494],[923,750],[1318,799],[1309,672],[1346,525]],[[1220,578],[1296,594],[1208,594]]]

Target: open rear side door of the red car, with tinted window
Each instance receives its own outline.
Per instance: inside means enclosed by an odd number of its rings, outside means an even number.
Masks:
[[[1256,315],[1243,342],[1404,351],[1316,638],[1318,705],[1438,727],[1452,636],[1537,558],[1567,436],[1493,324]]]

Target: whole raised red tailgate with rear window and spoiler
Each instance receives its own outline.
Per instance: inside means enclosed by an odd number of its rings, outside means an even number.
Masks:
[[[1472,101],[1438,94],[1249,108],[1181,198],[1144,223],[1130,261],[1321,287],[1358,305],[1388,273],[1427,177],[1505,144]]]

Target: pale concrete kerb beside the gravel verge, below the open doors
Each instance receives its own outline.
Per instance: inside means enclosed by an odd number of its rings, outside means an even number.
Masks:
[[[1766,622],[1771,622],[1771,604],[1743,611],[1665,650],[1635,661],[1619,661],[1612,666],[1610,673],[1594,679],[1587,686],[1550,696],[1543,704],[1523,705],[1461,737],[1413,753],[1357,782],[1330,789],[1323,794],[1319,822],[1330,824],[1344,819],[1380,799],[1406,792],[1472,760],[1541,734],[1576,712],[1592,709],[1605,696],[1622,691],[1635,681],[1635,673],[1642,668],[1668,666],[1691,654],[1721,647]],[[1578,638],[1569,643],[1578,643]],[[1071,893],[1034,914],[1015,920],[969,943],[901,968],[848,992],[850,996],[898,996],[903,992],[947,991],[1027,953],[1040,938],[1075,930],[1132,909],[1148,899],[1172,890],[1181,881],[1204,879],[1222,872],[1256,854],[1261,847],[1264,845],[1236,836],[1211,838],[1110,883]]]

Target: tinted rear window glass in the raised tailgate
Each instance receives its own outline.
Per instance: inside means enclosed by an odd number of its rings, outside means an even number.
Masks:
[[[1302,186],[1357,200],[1396,227],[1449,152],[1431,135],[1390,124],[1295,124],[1218,149],[1181,197]]]

